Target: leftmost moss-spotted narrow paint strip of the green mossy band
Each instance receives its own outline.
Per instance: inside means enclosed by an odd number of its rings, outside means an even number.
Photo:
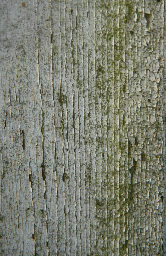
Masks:
[[[95,3],[96,254],[102,254],[102,2]]]

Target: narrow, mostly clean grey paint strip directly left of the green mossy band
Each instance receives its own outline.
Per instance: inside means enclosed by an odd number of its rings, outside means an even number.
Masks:
[[[96,1],[88,2],[88,98],[89,98],[89,124],[90,124],[90,241],[91,241],[91,254],[96,253],[96,166],[95,166],[95,5]]]

